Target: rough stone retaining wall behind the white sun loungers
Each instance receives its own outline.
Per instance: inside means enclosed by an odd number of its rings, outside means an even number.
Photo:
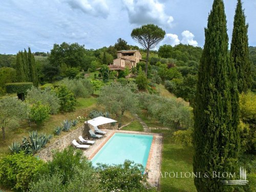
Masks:
[[[78,129],[70,132],[68,135],[65,135],[52,143],[51,145],[47,146],[46,148],[42,149],[39,151],[37,156],[44,160],[44,161],[49,161],[52,159],[52,151],[53,150],[63,150],[67,146],[71,145],[71,142],[75,139],[78,140],[78,137],[80,135],[83,136],[83,138],[87,137],[87,132],[84,129],[84,125],[80,126]]]

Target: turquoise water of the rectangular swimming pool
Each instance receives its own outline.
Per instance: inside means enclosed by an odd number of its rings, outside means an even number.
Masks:
[[[146,167],[152,140],[153,135],[115,133],[93,157],[93,166],[121,164],[129,159]]]

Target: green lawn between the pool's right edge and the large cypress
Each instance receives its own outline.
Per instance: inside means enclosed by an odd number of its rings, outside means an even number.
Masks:
[[[163,133],[161,172],[193,172],[193,148],[172,141],[170,130],[152,130]],[[193,178],[160,178],[160,191],[193,192],[197,191]]]

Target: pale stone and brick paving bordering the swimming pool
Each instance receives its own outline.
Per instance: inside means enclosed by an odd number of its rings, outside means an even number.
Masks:
[[[95,143],[87,150],[83,151],[83,155],[88,159],[92,159],[101,147],[115,134],[115,133],[131,133],[131,134],[145,134],[153,135],[153,141],[148,155],[146,169],[148,170],[148,182],[155,187],[159,186],[161,161],[162,161],[162,134],[150,132],[135,132],[124,130],[103,130],[106,133],[103,138],[95,139]]]

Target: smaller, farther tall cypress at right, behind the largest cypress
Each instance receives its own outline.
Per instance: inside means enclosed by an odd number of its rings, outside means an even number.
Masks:
[[[248,48],[248,24],[246,24],[241,0],[238,0],[234,15],[233,34],[231,41],[231,60],[237,70],[238,90],[247,92],[251,87],[249,48]]]

